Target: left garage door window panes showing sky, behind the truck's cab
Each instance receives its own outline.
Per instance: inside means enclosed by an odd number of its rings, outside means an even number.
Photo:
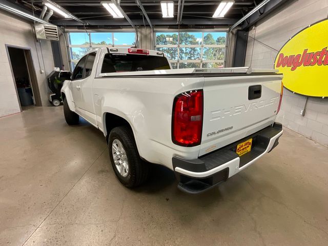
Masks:
[[[88,51],[104,47],[131,47],[135,44],[134,32],[70,32],[68,33],[71,68]]]

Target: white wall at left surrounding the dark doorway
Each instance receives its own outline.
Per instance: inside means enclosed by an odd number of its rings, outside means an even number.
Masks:
[[[4,11],[0,11],[0,33],[0,117],[20,112],[6,45],[31,49],[42,105],[48,106],[46,74],[54,67],[50,41],[36,43],[31,23]],[[40,73],[40,69],[45,73]]]

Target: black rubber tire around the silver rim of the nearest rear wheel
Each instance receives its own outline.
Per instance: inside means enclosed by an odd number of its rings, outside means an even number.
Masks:
[[[118,139],[121,142],[122,146],[126,151],[129,166],[128,175],[126,177],[122,176],[119,173],[114,163],[112,144],[115,139]],[[109,157],[112,163],[113,170],[122,185],[128,188],[133,188],[140,186],[147,180],[149,176],[148,163],[141,160],[135,144],[133,133],[128,127],[122,126],[114,128],[109,134],[108,147]]]

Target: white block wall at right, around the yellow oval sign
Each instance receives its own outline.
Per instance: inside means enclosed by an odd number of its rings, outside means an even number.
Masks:
[[[306,26],[327,18],[328,0],[289,1],[278,11],[270,14],[251,29],[249,36],[260,42],[280,48],[297,32]],[[273,68],[277,51],[270,49],[252,38],[248,38],[245,66],[253,68]],[[305,116],[300,110],[305,97],[284,89],[281,110],[277,121],[322,145],[328,146],[328,98],[309,98]]]

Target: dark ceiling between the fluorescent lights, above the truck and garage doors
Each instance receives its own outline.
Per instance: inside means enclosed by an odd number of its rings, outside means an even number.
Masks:
[[[9,2],[19,5],[19,7],[23,7],[29,12],[34,11],[36,16],[39,16],[43,8],[42,0],[10,0]],[[53,2],[65,8],[78,18],[83,19],[90,27],[131,27],[126,19],[114,19],[100,4],[101,1],[53,0]],[[177,15],[179,2],[184,2],[180,28],[220,28],[229,27],[236,23],[237,20],[243,17],[243,15],[247,14],[259,4],[261,0],[235,0],[235,4],[224,18],[212,18],[214,11],[220,3],[218,0],[174,0],[174,18],[162,18],[160,0],[142,0],[140,2],[146,10],[152,25],[156,28],[178,27]],[[135,0],[121,0],[120,6],[132,20],[134,25],[149,25],[146,17],[142,14],[140,7]],[[78,27],[81,25],[75,20],[65,19],[56,13],[50,18],[50,22],[65,27]]]

